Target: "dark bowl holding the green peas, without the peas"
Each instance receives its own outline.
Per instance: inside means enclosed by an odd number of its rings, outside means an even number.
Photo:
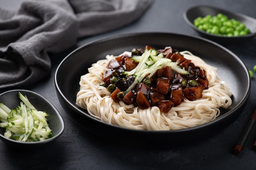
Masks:
[[[225,37],[221,35],[207,33],[206,31],[202,31],[193,25],[193,20],[195,20],[195,18],[198,18],[199,16],[204,17],[208,14],[214,16],[218,13],[227,15],[228,18],[234,18],[240,21],[241,23],[245,24],[251,30],[251,34],[236,37]],[[190,9],[184,11],[183,17],[186,23],[189,24],[189,26],[195,29],[195,31],[197,31],[204,38],[208,38],[220,44],[236,44],[246,42],[254,38],[254,36],[256,35],[256,19],[240,13],[227,11],[225,9],[210,6],[196,6],[191,7]]]

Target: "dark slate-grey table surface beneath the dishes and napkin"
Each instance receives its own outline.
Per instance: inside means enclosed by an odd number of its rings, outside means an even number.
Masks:
[[[19,4],[19,0],[0,1],[1,7],[10,9],[18,9]],[[156,0],[139,20],[115,31],[81,39],[77,47],[120,33],[171,32],[199,36],[183,19],[183,12],[198,4],[213,5],[256,18],[256,2],[253,0]],[[256,65],[256,38],[250,42],[225,47],[240,57],[248,69],[252,70]],[[253,170],[256,168],[256,152],[252,149],[256,128],[252,131],[242,152],[239,155],[232,154],[232,148],[240,132],[256,107],[256,73],[252,78],[252,91],[243,113],[227,128],[195,144],[189,144],[188,141],[186,145],[171,148],[137,148],[124,144],[112,144],[94,137],[76,125],[61,107],[56,96],[54,74],[61,60],[75,48],[50,55],[51,74],[27,87],[28,90],[43,95],[61,113],[65,121],[63,134],[53,143],[31,150],[15,150],[0,141],[1,170]],[[0,93],[7,90],[9,89],[0,89]]]

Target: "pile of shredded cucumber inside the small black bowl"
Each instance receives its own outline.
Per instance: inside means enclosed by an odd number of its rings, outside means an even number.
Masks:
[[[4,136],[18,141],[42,141],[52,137],[46,116],[43,111],[38,111],[20,92],[20,106],[10,109],[0,103],[0,127],[6,128]]]

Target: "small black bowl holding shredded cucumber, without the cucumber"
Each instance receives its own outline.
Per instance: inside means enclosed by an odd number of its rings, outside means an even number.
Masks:
[[[40,111],[45,111],[49,114],[47,116],[47,122],[49,127],[52,129],[53,137],[46,139],[44,141],[34,141],[34,142],[21,142],[16,141],[14,139],[10,139],[4,136],[5,128],[0,128],[0,139],[7,144],[8,146],[15,148],[24,148],[31,146],[38,146],[41,144],[47,144],[50,141],[53,141],[57,137],[61,135],[64,130],[64,121],[61,115],[58,113],[58,110],[44,97],[41,95],[27,90],[11,90],[4,92],[0,95],[0,102],[5,104],[10,109],[16,108],[18,105],[20,106],[21,100],[18,98],[18,92],[22,95],[26,95],[29,99],[29,102]]]

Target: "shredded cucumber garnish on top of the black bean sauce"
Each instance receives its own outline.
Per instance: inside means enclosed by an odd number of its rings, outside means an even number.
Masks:
[[[133,56],[131,59],[135,62],[139,62],[139,64],[133,70],[123,72],[126,76],[133,75],[135,77],[135,81],[129,86],[126,92],[131,91],[132,88],[134,88],[137,83],[141,82],[146,75],[150,78],[154,75],[157,69],[163,68],[164,66],[170,66],[172,70],[182,75],[189,75],[189,72],[177,66],[176,62],[164,58],[163,53],[157,55],[155,49],[145,50],[141,56]]]

